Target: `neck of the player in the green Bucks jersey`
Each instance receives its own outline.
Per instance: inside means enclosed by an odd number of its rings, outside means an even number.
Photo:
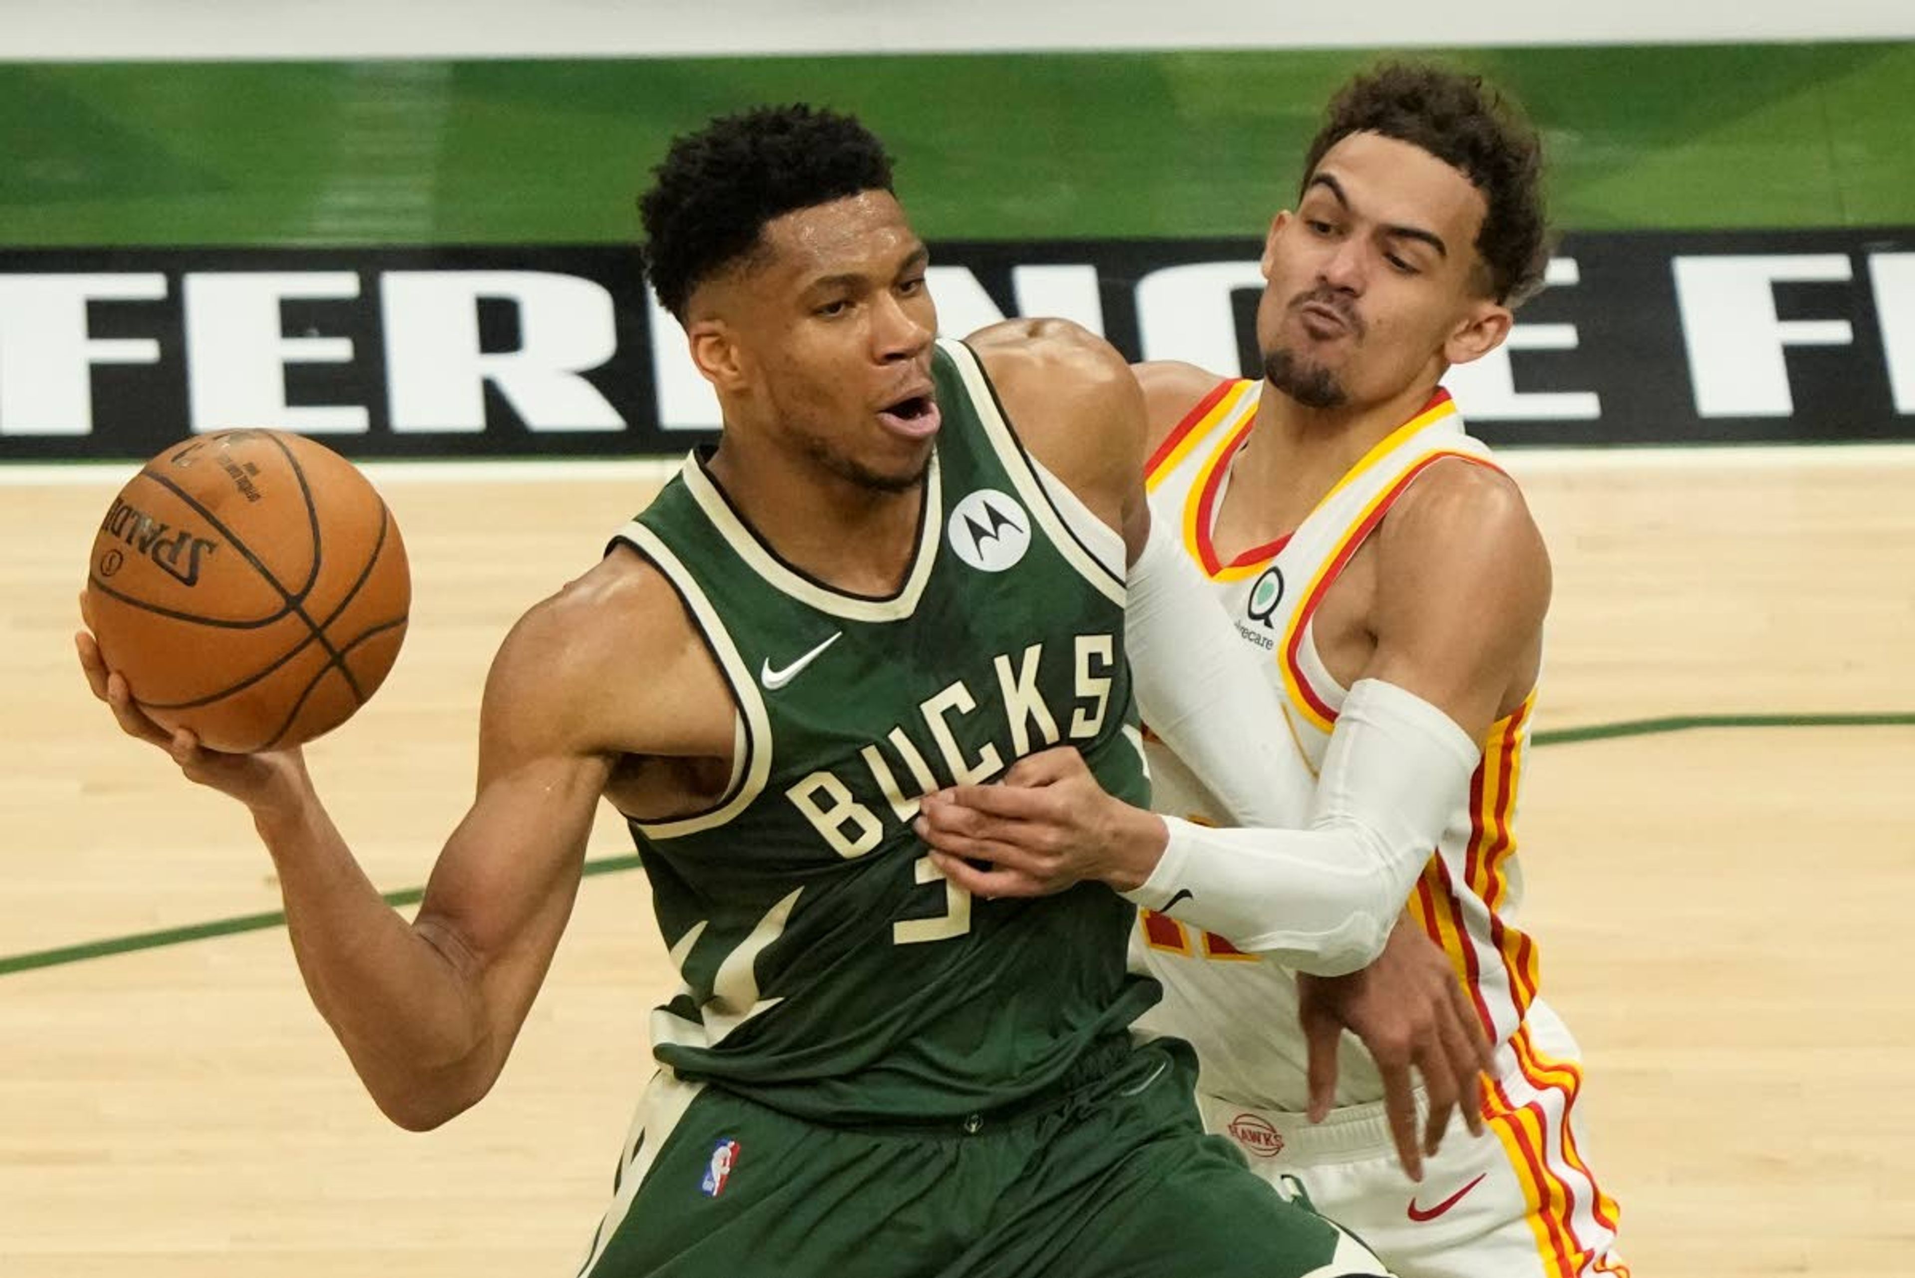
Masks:
[[[917,550],[925,485],[887,492],[793,460],[758,441],[726,439],[705,469],[777,558],[846,594],[889,596]]]

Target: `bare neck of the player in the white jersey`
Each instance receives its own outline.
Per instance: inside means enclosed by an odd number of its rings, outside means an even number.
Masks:
[[[1300,519],[1371,448],[1417,416],[1434,389],[1417,381],[1371,404],[1308,408],[1266,383],[1231,487],[1258,494],[1258,504],[1300,504]]]

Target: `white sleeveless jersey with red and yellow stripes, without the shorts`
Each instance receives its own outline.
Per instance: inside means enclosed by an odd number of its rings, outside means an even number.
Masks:
[[[1314,776],[1346,696],[1318,657],[1312,632],[1318,604],[1425,468],[1448,458],[1494,462],[1490,448],[1465,433],[1450,395],[1438,391],[1423,412],[1352,466],[1295,533],[1222,561],[1210,529],[1262,389],[1262,381],[1226,381],[1172,431],[1151,458],[1151,517],[1180,529],[1185,552],[1216,584],[1239,636],[1262,651],[1285,709],[1285,720],[1272,724],[1272,732],[1295,742],[1298,766]],[[1513,816],[1532,703],[1534,694],[1490,728],[1469,801],[1450,816],[1409,901],[1417,922],[1450,954],[1492,1040],[1517,1056],[1526,1044],[1513,1040],[1538,983],[1536,947],[1511,922],[1522,895]],[[1176,755],[1157,740],[1147,740],[1147,751],[1153,807],[1229,824]],[[1205,1092],[1272,1109],[1306,1107],[1306,1050],[1291,970],[1151,912],[1139,922],[1134,950],[1166,991],[1164,1004],[1147,1017],[1149,1029],[1199,1048]],[[1344,1035],[1337,1104],[1381,1098],[1375,1063]]]

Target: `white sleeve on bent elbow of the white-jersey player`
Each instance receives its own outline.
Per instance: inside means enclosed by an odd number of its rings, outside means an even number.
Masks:
[[[1337,715],[1308,830],[1164,818],[1170,845],[1124,895],[1300,971],[1356,971],[1383,952],[1480,759],[1429,701],[1360,680]]]

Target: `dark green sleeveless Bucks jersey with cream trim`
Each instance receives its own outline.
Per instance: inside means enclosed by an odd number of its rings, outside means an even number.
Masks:
[[[977,356],[938,343],[942,429],[890,598],[781,561],[693,454],[619,536],[672,581],[739,705],[730,791],[632,822],[684,977],[653,1050],[818,1119],[946,1119],[1055,1084],[1157,1000],[1136,910],[1097,883],[973,901],[917,797],[1074,745],[1147,801],[1124,663],[1124,546],[1032,462]]]

